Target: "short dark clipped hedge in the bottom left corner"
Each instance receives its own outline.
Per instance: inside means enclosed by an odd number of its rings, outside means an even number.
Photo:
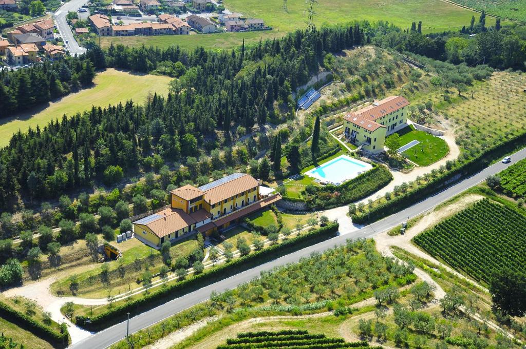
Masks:
[[[67,329],[62,333],[55,331],[41,322],[29,318],[26,314],[11,308],[11,306],[4,302],[0,302],[0,315],[3,315],[2,317],[9,322],[15,323],[19,327],[41,337],[55,346],[65,347],[68,344],[69,334]]]

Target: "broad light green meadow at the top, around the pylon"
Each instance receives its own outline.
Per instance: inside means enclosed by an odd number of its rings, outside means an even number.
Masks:
[[[279,31],[294,31],[305,28],[307,4],[303,1],[287,2],[287,11],[282,0],[225,0],[225,6],[245,16],[262,18],[265,23]],[[408,28],[413,21],[422,21],[424,33],[460,29],[469,25],[471,16],[479,14],[440,0],[319,0],[313,18],[317,26],[347,23],[352,20],[389,20],[389,23]],[[486,25],[494,19],[486,18]]]

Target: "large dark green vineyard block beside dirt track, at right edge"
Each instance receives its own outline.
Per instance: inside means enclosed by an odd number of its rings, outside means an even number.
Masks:
[[[494,270],[526,274],[526,217],[485,199],[414,238],[417,245],[473,278]]]

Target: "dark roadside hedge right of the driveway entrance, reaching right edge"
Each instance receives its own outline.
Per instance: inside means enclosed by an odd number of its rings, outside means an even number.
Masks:
[[[483,170],[483,168],[488,167],[494,159],[502,157],[512,149],[517,149],[517,147],[524,145],[525,142],[526,133],[523,133],[522,135],[508,141],[502,142],[498,145],[493,145],[482,154],[454,167],[449,172],[439,174],[428,183],[412,189],[410,192],[392,198],[385,203],[377,204],[377,206],[374,206],[367,211],[363,211],[362,213],[353,214],[352,221],[353,223],[366,224],[397,213],[430,195],[440,192],[448,184],[456,182],[462,177]]]

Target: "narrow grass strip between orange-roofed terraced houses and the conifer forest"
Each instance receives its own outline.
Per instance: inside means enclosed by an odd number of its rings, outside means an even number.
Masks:
[[[203,46],[207,50],[232,49],[241,46],[243,39],[245,44],[256,43],[260,39],[274,39],[285,35],[284,31],[266,30],[250,31],[248,33],[218,33],[199,35],[159,35],[159,36],[107,36],[100,38],[100,45],[108,47],[123,44],[127,46],[154,46],[169,47],[177,46],[187,50],[194,50]]]

